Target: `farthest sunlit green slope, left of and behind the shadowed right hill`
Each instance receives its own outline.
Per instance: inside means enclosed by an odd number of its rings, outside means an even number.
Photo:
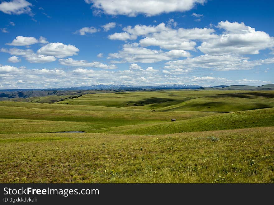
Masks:
[[[158,91],[136,91],[136,92],[118,92],[118,93],[98,93],[87,94],[79,98],[58,102],[59,104],[72,105],[100,105],[110,107],[138,107],[153,103],[163,103],[173,100],[179,102],[201,98],[205,96],[229,94],[235,91],[219,91],[219,90],[158,90]],[[245,91],[243,91],[245,92]],[[257,92],[257,91],[249,91]],[[274,91],[265,91],[272,92]],[[273,96],[272,96],[273,97]],[[165,105],[163,105],[165,106]]]

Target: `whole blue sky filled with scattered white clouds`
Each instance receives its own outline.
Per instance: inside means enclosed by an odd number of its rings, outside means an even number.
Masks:
[[[0,89],[272,84],[273,1],[0,1]]]

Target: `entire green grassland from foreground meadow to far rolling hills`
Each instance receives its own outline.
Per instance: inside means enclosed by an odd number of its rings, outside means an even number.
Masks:
[[[1,183],[274,183],[273,90],[70,98],[0,101]]]

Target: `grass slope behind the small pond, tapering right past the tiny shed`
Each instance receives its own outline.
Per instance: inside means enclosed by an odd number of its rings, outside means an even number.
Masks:
[[[91,132],[92,129],[168,122],[171,118],[187,120],[216,114],[210,112],[150,112],[81,105],[79,106],[82,110],[65,110],[71,106],[0,102],[0,133]],[[62,109],[59,109],[60,107]],[[74,109],[77,109],[77,106]]]

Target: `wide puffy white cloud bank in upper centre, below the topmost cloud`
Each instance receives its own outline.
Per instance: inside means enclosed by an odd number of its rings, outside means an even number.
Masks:
[[[163,49],[196,50],[196,40],[204,41],[215,39],[218,35],[214,34],[214,29],[191,28],[191,29],[172,29],[165,23],[157,26],[135,25],[134,27],[124,27],[121,33],[109,35],[111,40],[135,40],[138,36],[144,37],[139,41],[141,46],[160,46]]]

